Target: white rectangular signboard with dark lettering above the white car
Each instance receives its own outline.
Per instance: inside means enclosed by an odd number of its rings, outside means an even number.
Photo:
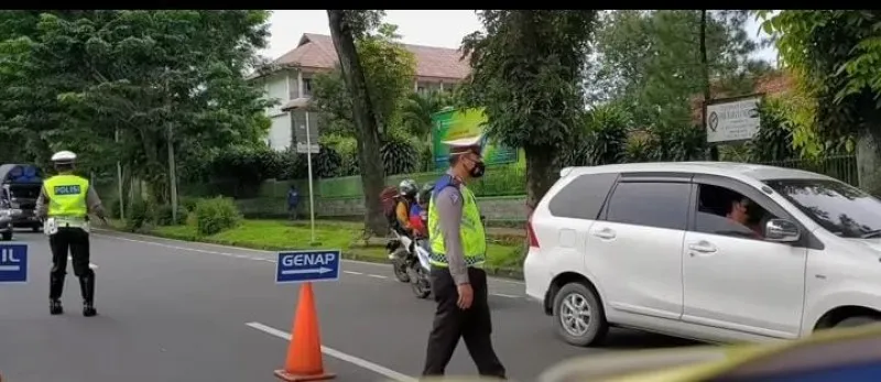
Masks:
[[[759,131],[761,97],[707,105],[707,142],[746,141]]]

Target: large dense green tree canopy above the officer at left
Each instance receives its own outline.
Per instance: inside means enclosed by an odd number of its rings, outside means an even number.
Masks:
[[[167,200],[168,145],[187,148],[178,150],[184,161],[202,160],[204,150],[265,133],[269,101],[242,74],[265,45],[268,14],[36,13],[35,25],[20,23],[24,32],[0,42],[1,121],[95,168],[119,160]]]

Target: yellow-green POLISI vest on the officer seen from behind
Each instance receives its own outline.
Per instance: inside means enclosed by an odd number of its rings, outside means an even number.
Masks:
[[[76,175],[55,175],[43,182],[43,188],[48,196],[50,218],[68,226],[85,222],[89,181]]]

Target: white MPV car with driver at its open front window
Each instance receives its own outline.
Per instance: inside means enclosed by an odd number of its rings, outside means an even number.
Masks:
[[[610,326],[736,342],[881,320],[881,201],[811,172],[567,167],[527,232],[526,294],[572,345]]]

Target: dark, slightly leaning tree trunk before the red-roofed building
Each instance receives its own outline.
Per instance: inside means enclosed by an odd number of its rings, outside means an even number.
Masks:
[[[385,183],[380,157],[379,125],[370,90],[355,42],[373,25],[379,24],[383,11],[327,10],[330,36],[339,57],[339,67],[346,88],[351,95],[352,120],[358,138],[358,167],[365,194],[366,229],[384,234],[388,229],[379,194]]]

